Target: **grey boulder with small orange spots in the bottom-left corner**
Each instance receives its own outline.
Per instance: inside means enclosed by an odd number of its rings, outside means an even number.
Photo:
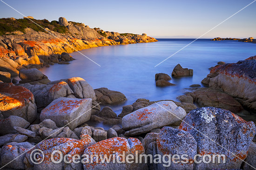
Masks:
[[[28,142],[11,142],[4,145],[0,152],[0,165],[6,165],[4,168],[24,170],[25,164],[23,163],[23,159],[26,156],[25,152],[33,147],[34,145]]]

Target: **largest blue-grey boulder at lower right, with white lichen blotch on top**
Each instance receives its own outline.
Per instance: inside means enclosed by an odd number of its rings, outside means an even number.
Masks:
[[[190,111],[179,129],[195,138],[197,154],[226,155],[226,164],[194,164],[197,170],[239,169],[256,131],[252,121],[246,122],[234,113],[215,107]]]

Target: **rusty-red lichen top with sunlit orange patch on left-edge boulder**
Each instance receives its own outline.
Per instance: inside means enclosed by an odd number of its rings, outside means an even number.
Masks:
[[[0,111],[19,109],[29,101],[34,102],[34,95],[27,88],[0,83]]]

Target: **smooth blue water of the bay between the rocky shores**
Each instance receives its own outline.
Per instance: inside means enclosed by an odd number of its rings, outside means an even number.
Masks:
[[[138,98],[177,101],[176,97],[183,94],[184,88],[189,88],[191,84],[201,84],[202,79],[209,74],[209,67],[215,66],[217,62],[234,63],[256,55],[256,44],[199,39],[155,67],[194,39],[158,40],[154,43],[112,45],[80,51],[101,67],[74,52],[70,55],[76,60],[71,64],[55,64],[41,71],[51,81],[78,76],[93,88],[106,87],[122,92],[128,101],[112,107],[119,114],[121,106],[132,104]],[[171,76],[178,63],[183,68],[194,69],[194,76],[172,78],[170,82],[176,86],[156,87],[155,74],[166,73]]]

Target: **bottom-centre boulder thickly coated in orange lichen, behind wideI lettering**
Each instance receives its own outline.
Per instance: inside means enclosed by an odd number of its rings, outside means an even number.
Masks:
[[[84,170],[144,170],[144,164],[128,164],[126,162],[126,156],[128,154],[135,155],[135,151],[138,151],[139,154],[145,152],[139,139],[116,137],[102,140],[85,149],[84,154],[99,156],[99,164],[97,164],[96,157],[93,160],[89,157],[88,162],[83,165]],[[101,163],[101,157],[103,158],[105,155],[109,159],[109,164],[107,161]]]

